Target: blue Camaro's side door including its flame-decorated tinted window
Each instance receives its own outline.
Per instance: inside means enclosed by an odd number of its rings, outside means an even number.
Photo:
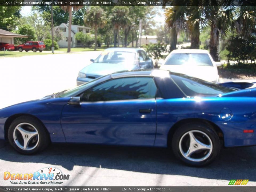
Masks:
[[[153,146],[157,87],[151,77],[111,79],[65,105],[61,124],[67,142]]]

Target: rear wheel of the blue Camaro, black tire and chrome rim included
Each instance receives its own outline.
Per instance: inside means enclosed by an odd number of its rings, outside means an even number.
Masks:
[[[217,133],[207,123],[187,123],[177,129],[172,139],[174,155],[190,166],[205,166],[220,151]]]

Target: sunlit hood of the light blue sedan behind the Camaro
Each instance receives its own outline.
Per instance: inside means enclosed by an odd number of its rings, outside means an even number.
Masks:
[[[134,69],[138,69],[137,65],[131,65],[130,63],[91,63],[83,68],[80,72],[90,75],[103,76],[117,71]]]

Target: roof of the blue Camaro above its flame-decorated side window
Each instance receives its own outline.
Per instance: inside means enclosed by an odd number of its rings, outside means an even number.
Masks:
[[[170,71],[161,69],[148,70],[133,70],[133,71],[118,71],[111,74],[111,78],[116,79],[120,77],[166,77],[169,76]]]

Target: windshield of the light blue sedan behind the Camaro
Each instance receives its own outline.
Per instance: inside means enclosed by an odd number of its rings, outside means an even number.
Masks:
[[[136,64],[136,54],[128,51],[105,50],[94,61],[95,63]]]

